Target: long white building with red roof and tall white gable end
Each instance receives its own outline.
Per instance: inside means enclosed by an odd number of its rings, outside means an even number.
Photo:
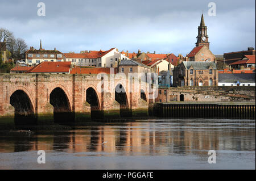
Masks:
[[[96,66],[111,68],[117,66],[119,60],[130,60],[122,53],[118,52],[117,48],[112,48],[107,51],[84,51],[81,53],[64,53],[64,61],[72,62],[77,66]]]

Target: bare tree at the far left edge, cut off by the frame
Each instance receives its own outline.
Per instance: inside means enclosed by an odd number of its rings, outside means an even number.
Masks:
[[[2,51],[14,39],[13,32],[0,28],[0,64],[2,63]]]

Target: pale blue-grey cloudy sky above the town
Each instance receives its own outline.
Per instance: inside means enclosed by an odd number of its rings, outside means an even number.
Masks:
[[[39,2],[46,16],[38,16]],[[209,2],[216,16],[209,16]],[[202,10],[210,50],[223,54],[255,48],[255,1],[172,0],[0,0],[0,27],[28,47],[187,54],[195,47]]]

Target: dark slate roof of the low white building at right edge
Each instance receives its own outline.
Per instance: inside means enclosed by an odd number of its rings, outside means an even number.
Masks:
[[[218,74],[218,82],[255,83],[255,74]]]

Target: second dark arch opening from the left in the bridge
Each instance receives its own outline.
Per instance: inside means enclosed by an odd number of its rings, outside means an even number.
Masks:
[[[49,95],[49,103],[53,106],[53,118],[55,123],[73,122],[71,104],[63,89],[60,87],[53,89]]]

